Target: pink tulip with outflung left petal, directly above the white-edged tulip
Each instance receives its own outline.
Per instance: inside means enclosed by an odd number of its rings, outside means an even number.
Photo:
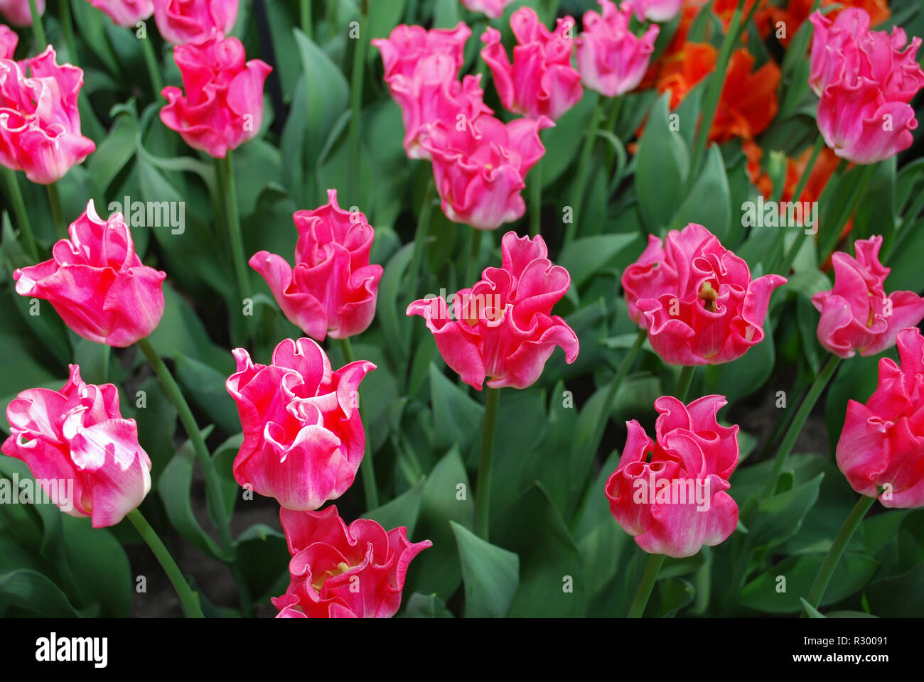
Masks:
[[[375,236],[366,216],[337,205],[336,189],[313,211],[298,211],[295,269],[285,259],[260,251],[250,267],[273,291],[289,322],[318,341],[366,331],[375,316],[382,266],[369,264]]]

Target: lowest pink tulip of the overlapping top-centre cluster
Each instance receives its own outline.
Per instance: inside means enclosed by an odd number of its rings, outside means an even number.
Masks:
[[[545,116],[507,124],[486,115],[461,126],[436,121],[424,147],[446,217],[479,230],[521,217],[526,174],[545,153],[539,131],[553,125]]]

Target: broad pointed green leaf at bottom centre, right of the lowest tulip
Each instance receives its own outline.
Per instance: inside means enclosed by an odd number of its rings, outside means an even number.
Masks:
[[[456,534],[467,618],[503,618],[519,585],[519,557],[451,521]]]

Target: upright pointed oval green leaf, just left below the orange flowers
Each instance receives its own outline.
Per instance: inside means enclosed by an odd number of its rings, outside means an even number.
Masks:
[[[645,135],[638,142],[638,211],[648,232],[654,234],[663,233],[671,224],[689,172],[687,143],[669,124],[669,101],[668,92],[654,104]]]

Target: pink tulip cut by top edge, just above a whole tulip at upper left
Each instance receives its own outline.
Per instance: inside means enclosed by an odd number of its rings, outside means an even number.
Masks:
[[[154,21],[167,43],[224,38],[237,21],[237,0],[153,0]]]

